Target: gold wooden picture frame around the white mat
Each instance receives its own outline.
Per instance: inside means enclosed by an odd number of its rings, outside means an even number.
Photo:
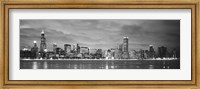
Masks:
[[[36,89],[122,89],[122,88],[173,88],[198,89],[199,87],[199,1],[1,1],[1,88]],[[192,66],[191,80],[9,80],[9,10],[10,9],[191,9]]]

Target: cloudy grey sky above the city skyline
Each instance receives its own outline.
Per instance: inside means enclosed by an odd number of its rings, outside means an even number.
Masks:
[[[149,49],[153,45],[180,48],[180,20],[20,20],[20,48],[32,47],[44,30],[47,48],[53,43],[76,44],[89,48],[116,48],[129,37],[129,49]]]

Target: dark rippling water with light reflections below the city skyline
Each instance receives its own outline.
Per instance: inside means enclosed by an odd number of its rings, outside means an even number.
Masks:
[[[20,69],[180,69],[180,59],[173,60],[20,60]]]

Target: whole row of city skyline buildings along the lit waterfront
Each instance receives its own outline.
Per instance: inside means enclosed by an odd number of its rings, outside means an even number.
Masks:
[[[131,38],[130,38],[131,39]],[[44,30],[41,32],[40,47],[37,47],[37,41],[33,41],[34,46],[31,50],[23,48],[20,51],[21,58],[30,59],[106,59],[106,60],[171,60],[179,57],[177,51],[174,49],[172,52],[167,50],[167,47],[158,47],[156,53],[153,45],[149,45],[149,50],[129,50],[129,38],[123,37],[122,43],[118,48],[110,48],[107,50],[102,49],[90,49],[89,47],[79,46],[79,44],[64,44],[64,48],[57,46],[57,43],[53,43],[53,50],[47,49],[46,38]]]

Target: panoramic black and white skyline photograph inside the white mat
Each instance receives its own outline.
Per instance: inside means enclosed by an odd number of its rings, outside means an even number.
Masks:
[[[20,69],[180,69],[180,20],[19,23]]]

